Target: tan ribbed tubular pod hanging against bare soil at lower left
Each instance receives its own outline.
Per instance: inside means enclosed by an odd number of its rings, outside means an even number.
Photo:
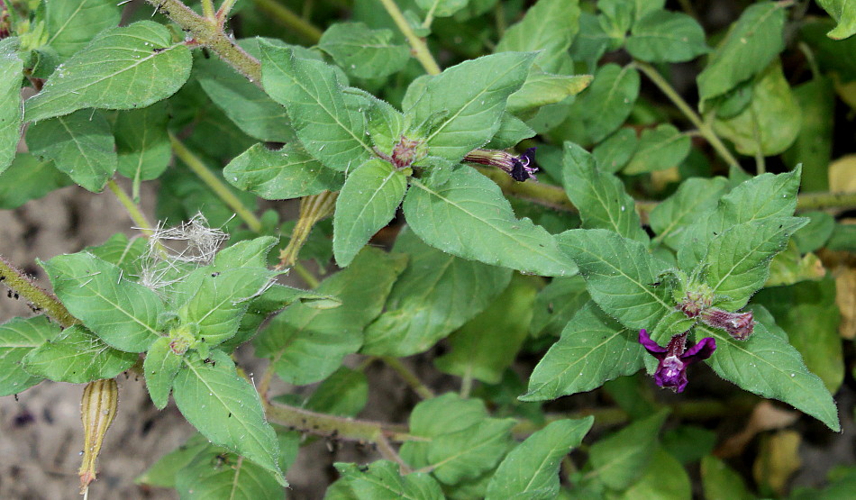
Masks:
[[[94,380],[83,389],[80,419],[83,421],[83,463],[80,464],[80,494],[96,480],[96,459],[101,452],[104,436],[116,416],[119,406],[119,386],[114,378]]]

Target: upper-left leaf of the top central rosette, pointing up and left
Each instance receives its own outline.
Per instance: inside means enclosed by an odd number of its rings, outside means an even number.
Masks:
[[[332,66],[263,41],[261,74],[265,91],[286,106],[297,138],[314,159],[340,171],[369,159],[365,117],[351,106],[357,98],[342,92]]]

